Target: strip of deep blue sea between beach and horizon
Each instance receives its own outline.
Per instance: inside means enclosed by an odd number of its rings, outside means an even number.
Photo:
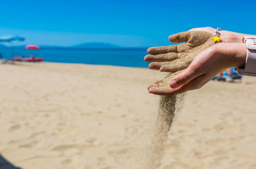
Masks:
[[[48,48],[41,50],[26,50],[22,48],[3,48],[0,53],[3,58],[11,58],[17,55],[31,55],[44,57],[48,62],[113,65],[125,67],[148,67],[143,60],[147,55],[147,49],[139,48],[116,48],[116,49],[70,49],[70,48]]]

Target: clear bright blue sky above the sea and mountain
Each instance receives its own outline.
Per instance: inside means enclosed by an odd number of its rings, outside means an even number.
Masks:
[[[125,47],[162,46],[170,45],[169,35],[196,27],[256,34],[255,6],[253,0],[8,0],[1,2],[0,36],[26,37],[16,45],[101,41]]]

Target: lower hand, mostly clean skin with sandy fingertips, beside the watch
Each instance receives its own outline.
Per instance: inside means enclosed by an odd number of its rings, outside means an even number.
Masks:
[[[199,89],[221,71],[231,67],[244,67],[246,54],[246,44],[216,44],[196,56],[190,66],[173,79],[171,78],[174,75],[159,80],[160,83],[157,83],[157,86],[149,86],[148,91],[158,95],[174,96]]]

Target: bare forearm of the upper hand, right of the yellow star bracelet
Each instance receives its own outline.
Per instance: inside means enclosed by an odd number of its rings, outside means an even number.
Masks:
[[[243,43],[244,36],[256,36],[256,35],[249,35],[237,32],[230,32],[230,31],[220,31],[221,37],[225,39],[224,43]]]

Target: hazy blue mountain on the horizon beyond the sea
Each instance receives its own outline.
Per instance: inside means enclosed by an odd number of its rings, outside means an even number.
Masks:
[[[121,46],[109,44],[109,43],[91,42],[91,43],[74,45],[74,46],[71,46],[70,48],[121,48]]]

